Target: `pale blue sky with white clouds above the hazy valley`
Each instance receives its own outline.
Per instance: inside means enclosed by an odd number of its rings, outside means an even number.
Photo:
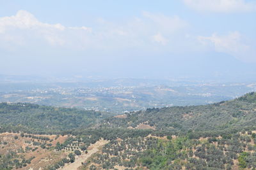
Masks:
[[[0,74],[256,78],[255,0],[0,4]]]

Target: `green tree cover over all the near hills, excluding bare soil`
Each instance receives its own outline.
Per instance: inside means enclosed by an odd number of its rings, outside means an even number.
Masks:
[[[131,112],[122,117],[105,118],[98,124],[97,120],[105,116],[95,111],[23,103],[1,103],[0,117],[2,132],[9,129],[68,135],[56,146],[51,145],[51,139],[33,134],[21,132],[20,136],[13,137],[31,139],[30,148],[25,152],[43,148],[68,153],[47,167],[51,170],[74,162],[76,155],[86,153],[88,147],[100,139],[109,143],[82,162],[82,169],[256,168],[254,92],[204,106]],[[154,128],[140,129],[141,124]],[[6,143],[1,141],[0,145],[4,147]],[[17,153],[12,153],[12,161],[8,163],[6,157],[10,158],[10,153],[1,155],[2,168],[26,166],[23,162],[27,160],[17,159]]]

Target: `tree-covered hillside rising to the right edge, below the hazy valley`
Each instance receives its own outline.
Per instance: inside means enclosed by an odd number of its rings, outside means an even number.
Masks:
[[[217,131],[252,127],[256,122],[256,93],[232,101],[202,106],[152,108],[107,118],[102,127],[157,129],[164,131]]]

